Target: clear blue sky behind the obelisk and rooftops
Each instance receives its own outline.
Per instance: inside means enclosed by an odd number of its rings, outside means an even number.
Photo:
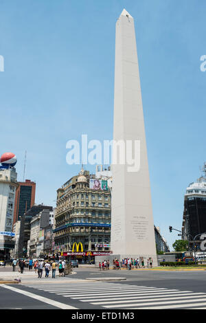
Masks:
[[[205,161],[204,0],[0,0],[1,149],[18,157],[18,179],[36,181],[36,203],[80,166],[66,143],[113,135],[115,22],[135,19],[155,225],[170,247],[183,194]],[[89,166],[95,171],[95,166]]]

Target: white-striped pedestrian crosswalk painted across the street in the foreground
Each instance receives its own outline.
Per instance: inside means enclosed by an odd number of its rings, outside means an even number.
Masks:
[[[87,302],[96,309],[206,309],[206,293],[112,282],[73,282],[30,287]]]

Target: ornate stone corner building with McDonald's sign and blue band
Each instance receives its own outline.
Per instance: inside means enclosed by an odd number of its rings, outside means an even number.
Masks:
[[[60,252],[63,256],[76,254],[86,260],[88,252],[93,256],[110,251],[111,191],[105,183],[104,186],[91,188],[91,181],[101,182],[82,169],[78,176],[72,177],[57,190],[56,253]],[[82,244],[80,250],[79,243]]]

